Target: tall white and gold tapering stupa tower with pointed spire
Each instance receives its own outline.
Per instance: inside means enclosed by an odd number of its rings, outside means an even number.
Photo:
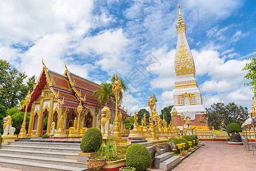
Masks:
[[[182,113],[185,115],[185,119],[189,117],[192,121],[191,125],[207,127],[207,120],[203,117],[206,110],[202,103],[202,94],[198,89],[197,80],[195,78],[196,68],[194,59],[189,48],[188,40],[186,39],[186,24],[181,17],[180,4],[178,7],[179,17],[178,25],[176,26],[178,39],[174,59],[177,80],[173,93],[174,107],[172,108],[172,112],[174,108],[177,111],[176,124],[178,128],[182,129],[182,120],[180,118]],[[173,116],[172,120],[174,120]]]

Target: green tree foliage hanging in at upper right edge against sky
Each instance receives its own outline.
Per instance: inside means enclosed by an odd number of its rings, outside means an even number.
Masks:
[[[254,49],[254,52],[256,48]],[[253,99],[256,98],[256,58],[249,57],[247,60],[250,60],[250,63],[246,63],[245,67],[242,68],[242,71],[247,71],[248,73],[243,77],[246,80],[250,80],[249,83],[245,83],[245,86],[251,86],[251,90],[254,93]]]

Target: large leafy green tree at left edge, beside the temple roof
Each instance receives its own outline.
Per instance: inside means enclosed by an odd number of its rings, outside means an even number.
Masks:
[[[27,84],[24,82],[26,78],[25,73],[18,72],[15,68],[11,69],[10,63],[0,60],[0,104],[6,109],[17,106],[29,89],[32,90],[35,76],[29,78]]]

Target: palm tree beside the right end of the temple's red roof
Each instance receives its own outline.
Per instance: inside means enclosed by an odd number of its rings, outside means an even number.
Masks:
[[[101,103],[105,102],[105,106],[107,106],[107,100],[112,99],[112,84],[109,84],[107,82],[100,84],[101,89],[97,89],[94,91],[92,96],[96,96],[99,94],[98,97],[99,100],[99,107],[101,107]]]

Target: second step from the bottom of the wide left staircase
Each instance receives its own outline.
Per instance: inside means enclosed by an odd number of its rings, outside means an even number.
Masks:
[[[53,165],[62,165],[62,166],[72,166],[72,167],[78,167],[78,168],[87,168],[86,163],[78,162],[78,160],[71,160],[66,158],[24,156],[24,155],[3,154],[3,153],[0,153],[0,158],[1,160],[2,159],[19,160],[19,161],[39,162],[42,164],[53,164]]]

